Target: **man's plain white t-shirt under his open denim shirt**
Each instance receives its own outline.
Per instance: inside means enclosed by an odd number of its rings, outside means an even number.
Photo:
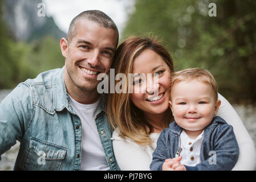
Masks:
[[[82,156],[80,170],[109,170],[110,168],[95,123],[96,111],[99,107],[100,100],[94,104],[80,104],[70,97],[70,104],[82,123]]]

